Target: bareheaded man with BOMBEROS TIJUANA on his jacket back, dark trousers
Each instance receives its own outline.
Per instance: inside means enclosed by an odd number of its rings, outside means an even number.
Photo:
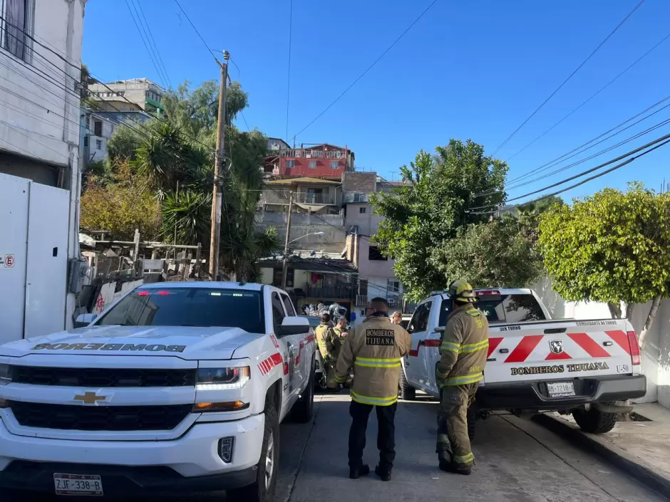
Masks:
[[[351,384],[351,429],[349,430],[349,477],[359,479],[370,472],[363,463],[368,417],[373,408],[378,420],[379,464],[375,474],[391,480],[396,458],[396,408],[401,359],[411,348],[411,336],[401,326],[390,323],[388,303],[373,298],[368,317],[346,338],[335,368],[336,382],[345,382],[354,369]]]

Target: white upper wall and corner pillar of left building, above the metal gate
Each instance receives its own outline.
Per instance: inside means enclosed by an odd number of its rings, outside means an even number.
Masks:
[[[70,192],[68,258],[79,254],[81,127],[76,85],[81,73],[85,4],[86,0],[31,0],[32,26],[27,31],[39,43],[29,42],[27,61],[0,48],[0,150],[66,169],[63,188]],[[66,285],[63,277],[63,288]],[[75,296],[68,294],[63,313],[66,328],[72,325],[75,303]]]

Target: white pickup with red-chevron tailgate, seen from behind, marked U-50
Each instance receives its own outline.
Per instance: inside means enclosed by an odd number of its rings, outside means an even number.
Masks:
[[[626,400],[644,396],[640,349],[628,320],[551,320],[530,289],[484,289],[476,294],[490,328],[484,381],[468,415],[471,435],[475,417],[498,409],[572,413],[584,431],[609,432],[617,414],[632,410]],[[414,311],[401,398],[413,399],[416,389],[439,396],[438,347],[452,309],[448,293],[436,292]]]

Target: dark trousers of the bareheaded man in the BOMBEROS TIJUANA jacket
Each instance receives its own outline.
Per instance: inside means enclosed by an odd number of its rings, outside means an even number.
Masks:
[[[391,472],[393,460],[396,459],[396,409],[398,403],[388,406],[373,406],[351,401],[351,429],[349,429],[349,467],[359,469],[363,465],[365,449],[365,433],[368,428],[368,417],[376,408],[378,433],[377,448],[379,449],[379,467],[383,472]]]

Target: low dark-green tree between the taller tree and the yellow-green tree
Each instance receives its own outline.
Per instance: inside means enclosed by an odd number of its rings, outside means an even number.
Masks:
[[[535,246],[512,216],[458,229],[455,239],[433,251],[431,265],[444,277],[468,278],[475,288],[525,288],[543,270]]]

